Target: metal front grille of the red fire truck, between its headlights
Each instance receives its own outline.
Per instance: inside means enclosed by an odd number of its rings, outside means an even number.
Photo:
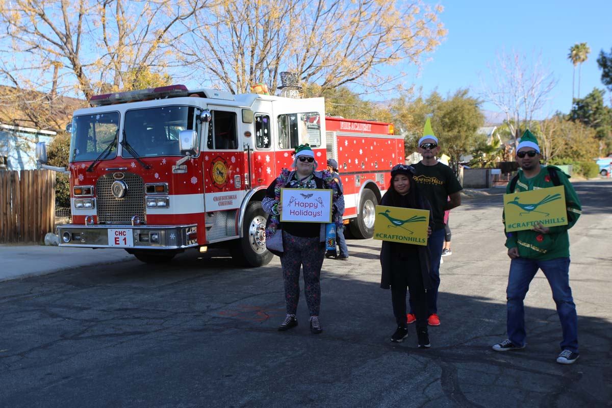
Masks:
[[[113,173],[100,177],[95,184],[98,222],[131,224],[132,217],[138,215],[141,222],[144,223],[144,182],[142,177],[138,174],[126,172],[121,181],[127,185],[127,191],[122,198],[116,198],[113,195],[113,182],[115,182]]]

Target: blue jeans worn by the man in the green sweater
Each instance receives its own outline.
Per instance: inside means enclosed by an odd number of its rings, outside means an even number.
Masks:
[[[550,261],[537,261],[528,258],[512,259],[506,289],[508,338],[517,346],[525,345],[527,333],[525,332],[523,299],[525,299],[525,295],[529,291],[529,283],[531,283],[538,269],[542,269],[548,284],[550,284],[550,289],[553,291],[553,300],[557,305],[557,314],[563,331],[561,349],[568,349],[577,353],[578,316],[569,284],[569,258],[557,258]]]

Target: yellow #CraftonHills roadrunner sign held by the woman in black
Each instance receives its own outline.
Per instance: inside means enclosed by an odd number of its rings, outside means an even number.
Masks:
[[[427,245],[429,211],[376,206],[374,239]]]

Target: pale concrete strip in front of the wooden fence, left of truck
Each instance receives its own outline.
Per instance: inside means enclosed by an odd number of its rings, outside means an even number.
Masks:
[[[62,248],[45,245],[0,245],[0,282],[89,265],[135,259],[120,249]]]

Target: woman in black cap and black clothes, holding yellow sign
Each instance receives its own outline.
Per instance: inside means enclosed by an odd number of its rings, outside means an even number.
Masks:
[[[431,210],[425,196],[419,193],[413,177],[414,168],[412,166],[394,166],[391,169],[389,190],[383,196],[381,205]],[[431,234],[431,215],[429,220],[428,236]],[[408,336],[408,324],[406,324],[406,288],[408,288],[417,319],[416,328],[419,347],[430,347],[427,332],[428,313],[426,295],[426,289],[431,288],[429,258],[427,246],[389,241],[383,241],[382,243],[381,287],[383,289],[391,288],[393,313],[397,321],[397,330],[391,336],[391,341],[400,342]]]

